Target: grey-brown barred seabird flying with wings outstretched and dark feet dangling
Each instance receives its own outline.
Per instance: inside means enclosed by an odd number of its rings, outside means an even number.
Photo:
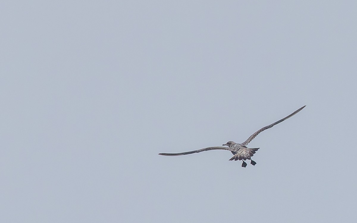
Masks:
[[[187,155],[187,154],[192,154],[192,153],[199,153],[199,152],[213,150],[213,149],[224,149],[224,150],[231,151],[232,154],[233,154],[233,157],[230,158],[229,160],[242,160],[243,159],[242,167],[246,167],[247,163],[244,162],[244,161],[246,159],[250,159],[251,160],[250,163],[254,166],[257,163],[254,162],[251,159],[251,157],[253,156],[253,154],[256,153],[256,151],[259,148],[248,148],[248,147],[246,147],[248,145],[248,143],[250,143],[262,131],[264,131],[264,130],[266,130],[268,128],[271,128],[271,127],[275,126],[276,124],[278,124],[278,123],[280,123],[280,122],[282,122],[284,120],[287,120],[288,118],[292,117],[296,113],[300,112],[303,108],[305,108],[305,106],[302,106],[301,108],[299,108],[295,112],[291,113],[290,115],[286,116],[285,118],[282,118],[281,120],[279,120],[277,122],[274,122],[274,123],[272,123],[272,124],[270,124],[268,126],[265,126],[265,127],[261,128],[260,130],[256,131],[253,135],[251,135],[246,141],[244,141],[242,143],[235,143],[233,141],[229,141],[229,142],[227,142],[227,143],[222,145],[222,146],[228,146],[228,147],[215,146],[215,147],[207,147],[207,148],[193,150],[193,151],[190,151],[190,152],[183,152],[183,153],[159,153],[159,155],[162,155],[162,156],[182,156],[182,155]]]

